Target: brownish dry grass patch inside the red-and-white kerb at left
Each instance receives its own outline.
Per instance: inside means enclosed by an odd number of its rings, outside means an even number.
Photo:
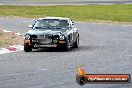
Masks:
[[[3,31],[0,31],[0,48],[22,44],[22,36],[14,35],[12,33],[4,33]]]

